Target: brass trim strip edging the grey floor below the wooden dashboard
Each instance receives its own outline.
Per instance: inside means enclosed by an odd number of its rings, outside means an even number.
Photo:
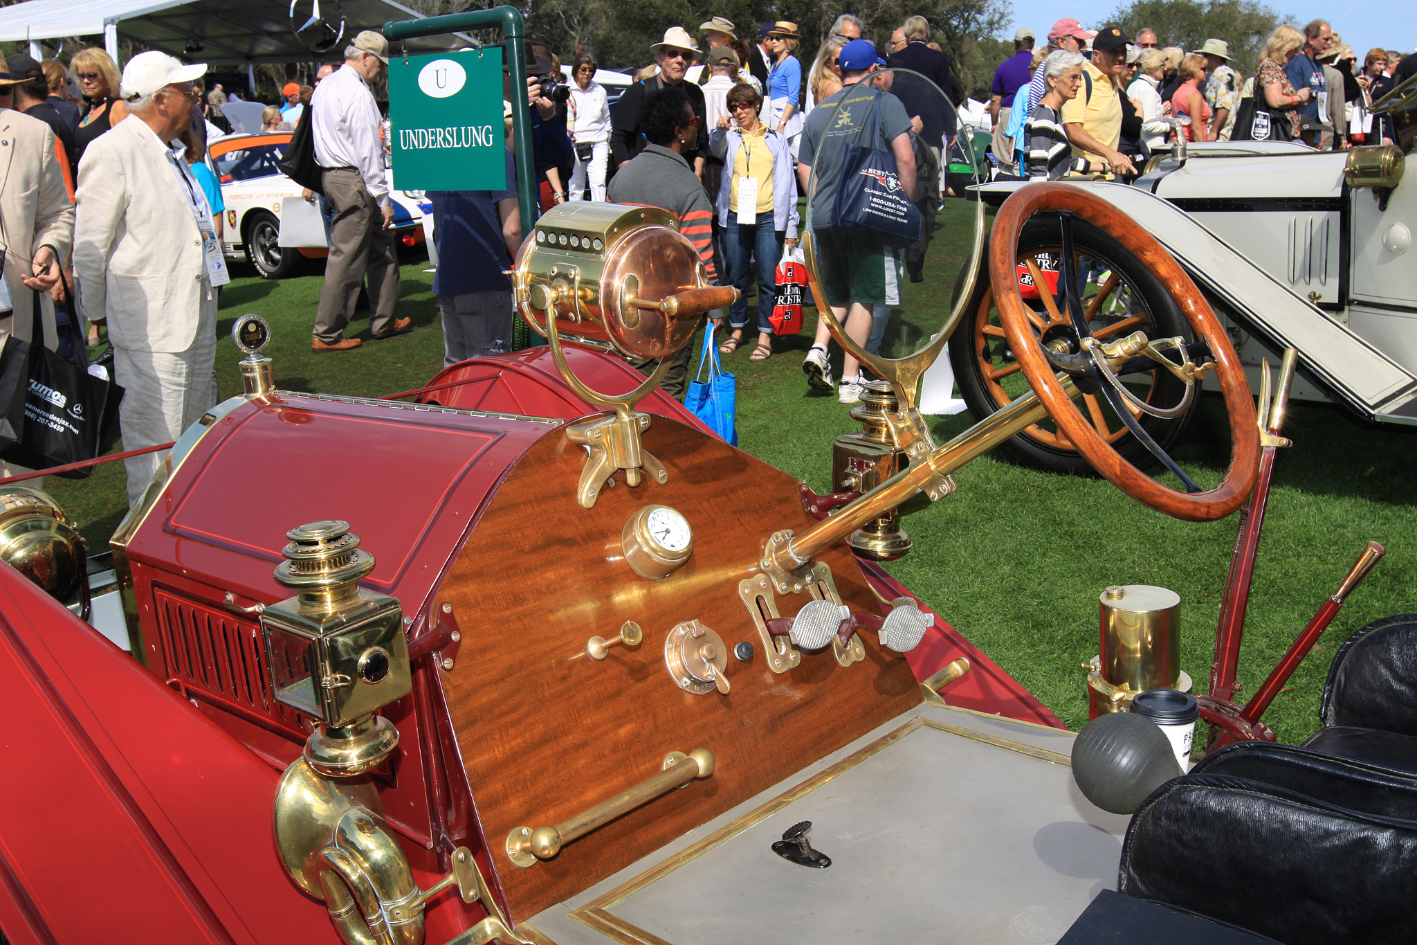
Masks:
[[[1000,718],[999,715],[988,715],[985,713],[975,713],[971,710],[955,708],[951,711],[969,711],[971,714],[982,715],[983,718]],[[1010,718],[1009,721],[1015,720]],[[1032,725],[1034,723],[1022,723],[1022,724]],[[1047,725],[1037,725],[1037,727],[1049,728]],[[1037,758],[1040,761],[1047,761],[1057,765],[1066,765],[1068,768],[1073,766],[1071,758],[1068,758],[1067,755],[1060,755],[1054,751],[1047,751],[1044,748],[1034,748],[1033,745],[1024,745],[1023,742],[1010,741],[1007,738],[999,738],[998,735],[988,735],[985,732],[972,731],[969,728],[951,725],[949,723],[941,723],[932,718],[922,718],[921,715],[915,715],[905,724],[881,735],[880,738],[866,745],[864,748],[860,748],[854,754],[847,755],[846,758],[836,762],[830,768],[825,768],[823,771],[812,775],[799,785],[789,788],[788,791],[778,795],[772,800],[768,800],[767,803],[750,810],[748,813],[743,815],[733,823],[718,827],[703,840],[699,840],[697,843],[686,847],[684,850],[680,850],[667,860],[663,860],[662,863],[657,863],[649,870],[645,870],[639,876],[628,880],[626,883],[622,883],[621,885],[615,887],[605,895],[601,895],[599,898],[595,898],[591,902],[587,902],[585,905],[574,910],[571,912],[571,918],[580,921],[584,925],[588,925],[589,928],[594,928],[597,932],[601,932],[609,939],[621,942],[621,945],[673,945],[672,942],[666,942],[657,935],[652,935],[650,932],[646,932],[645,929],[625,921],[618,915],[608,912],[606,910],[619,902],[623,902],[625,900],[628,900],[631,895],[640,891],[646,885],[650,885],[652,883],[656,883],[657,880],[669,876],[679,867],[690,863],[691,860],[696,860],[708,850],[713,850],[714,847],[721,846],[723,843],[731,840],[733,837],[738,836],[748,827],[760,823],[761,820],[765,820],[778,810],[786,808],[794,800],[812,793],[813,791],[816,791],[826,782],[832,781],[837,775],[846,774],[856,765],[862,764],[863,761],[867,761],[873,755],[880,754],[886,748],[890,748],[893,744],[896,744],[905,735],[920,728],[934,728],[937,731],[948,732],[951,735],[962,735],[965,738],[982,741],[996,748],[1016,751],[1022,755]],[[1060,730],[1049,728],[1049,731],[1060,731]]]

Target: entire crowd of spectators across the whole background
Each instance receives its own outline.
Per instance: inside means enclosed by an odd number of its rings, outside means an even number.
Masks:
[[[697,37],[677,26],[666,30],[649,50],[653,64],[623,91],[614,116],[594,55],[575,57],[572,81],[557,94],[560,61],[547,44],[529,43],[537,197],[543,208],[608,200],[676,214],[708,278],[743,290],[716,313],[720,351],[751,343],[754,361],[774,356],[768,316],[777,268],[811,227],[826,303],[847,336],[879,353],[901,283],[922,278],[932,214],[947,190],[947,152],[961,133],[954,105],[964,95],[948,55],[928,41],[930,24],[918,16],[893,31],[883,55],[863,38],[862,21],[842,14],[806,69],[795,23],[765,23],[751,43],[738,33],[718,16],[700,24]],[[1417,58],[1390,50],[1372,50],[1359,64],[1325,21],[1277,28],[1250,77],[1233,68],[1223,38],[1187,52],[1163,47],[1153,30],[1134,40],[1118,27],[1094,31],[1061,18],[1036,47],[1033,30],[1017,30],[990,88],[995,163],[1020,179],[1132,176],[1178,135],[1295,139],[1318,149],[1386,143],[1393,129],[1372,115],[1372,103],[1417,71]],[[282,103],[266,109],[266,128],[309,126],[319,169],[306,196],[320,203],[330,255],[313,319],[315,351],[361,344],[344,336],[361,290],[374,339],[411,330],[395,310],[393,203],[373,94],[387,64],[387,41],[360,33],[340,64],[320,68],[313,86],[290,82],[281,89]],[[689,78],[694,64],[703,65],[697,81]],[[112,371],[128,391],[125,446],[176,439],[217,398],[217,290],[230,276],[221,190],[203,157],[237,94],[228,99],[221,85],[204,94],[205,67],[163,52],[135,55],[122,72],[98,48],[75,52],[68,69],[23,54],[6,67],[0,109],[9,125],[0,143],[11,160],[0,186],[0,339],[58,349],[62,329],[84,323],[79,310],[106,323]],[[81,98],[69,95],[71,82]],[[503,95],[513,94],[521,94],[520,79],[509,78]],[[510,113],[506,105],[509,126]],[[434,281],[448,364],[510,341],[506,271],[521,220],[507,140],[506,188],[429,194],[439,258],[455,261]],[[860,147],[893,159],[896,183],[921,213],[914,242],[847,232],[837,221],[842,167]],[[799,197],[806,197],[806,221]],[[866,378],[847,353],[837,383],[829,341],[819,322],[803,358],[808,384],[856,402]],[[683,397],[689,357],[687,349],[674,356],[665,380],[672,395]],[[128,460],[130,500],[157,462],[153,455]]]

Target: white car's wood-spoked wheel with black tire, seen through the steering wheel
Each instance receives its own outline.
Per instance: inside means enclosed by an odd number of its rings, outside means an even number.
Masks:
[[[1047,293],[1034,286],[1032,262],[1041,272],[1046,289],[1056,289],[1061,247],[1056,217],[1034,217],[1019,237],[1017,282],[1024,295],[1029,319],[1039,332],[1067,319]],[[1172,302],[1166,286],[1142,266],[1111,235],[1087,222],[1074,224],[1074,264],[1091,276],[1081,286],[1083,303],[1093,337],[1114,340],[1131,332],[1146,337],[1183,337],[1195,341],[1190,326]],[[956,282],[961,285],[962,279]],[[949,344],[949,358],[959,381],[959,391],[971,412],[983,419],[1002,409],[1029,390],[1027,378],[1005,339],[995,306],[990,279],[975,283],[966,313]],[[1152,370],[1129,374],[1124,383],[1139,400],[1155,407],[1175,407],[1185,395],[1185,384],[1172,374]],[[1097,432],[1132,465],[1146,469],[1156,460],[1125,426],[1107,398],[1087,394],[1083,398],[1088,419]],[[1163,419],[1132,409],[1151,436],[1165,448],[1175,443],[1190,422],[1190,411]],[[1036,424],[1009,441],[1009,451],[1020,462],[1049,472],[1094,475],[1093,466],[1051,419]]]

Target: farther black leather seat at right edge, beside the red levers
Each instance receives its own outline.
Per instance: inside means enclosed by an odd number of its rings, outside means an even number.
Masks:
[[[1333,655],[1306,747],[1417,774],[1417,613],[1373,621]]]

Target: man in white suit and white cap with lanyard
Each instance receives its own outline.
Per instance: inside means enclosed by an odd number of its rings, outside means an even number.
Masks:
[[[191,122],[205,65],[142,52],[123,69],[129,118],[79,162],[79,302],[108,317],[123,446],[156,446],[215,404],[217,292],[230,281],[201,186],[170,142]],[[126,460],[136,504],[163,453]]]

